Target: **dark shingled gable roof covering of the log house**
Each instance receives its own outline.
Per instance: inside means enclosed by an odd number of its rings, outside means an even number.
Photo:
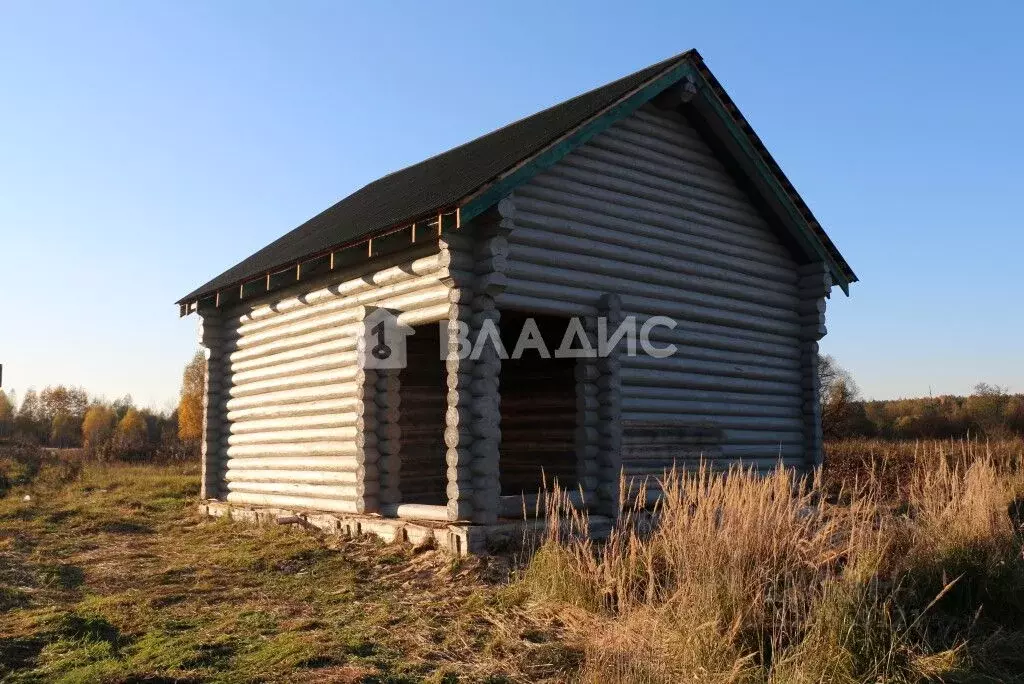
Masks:
[[[504,172],[687,59],[712,84],[729,116],[750,136],[814,233],[849,280],[855,281],[850,266],[708,70],[703,59],[695,50],[688,50],[375,180],[197,288],[178,303],[196,301],[301,260],[454,209],[460,201],[486,186]]]

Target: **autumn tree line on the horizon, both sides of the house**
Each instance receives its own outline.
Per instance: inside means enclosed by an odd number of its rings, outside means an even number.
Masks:
[[[81,387],[29,389],[16,401],[0,391],[0,439],[85,448],[100,459],[187,459],[199,455],[203,432],[205,359],[185,365],[177,408],[170,413],[114,401]],[[1024,394],[980,383],[969,396],[869,400],[831,356],[818,359],[821,422],[826,439],[929,439],[977,435],[1024,436]]]

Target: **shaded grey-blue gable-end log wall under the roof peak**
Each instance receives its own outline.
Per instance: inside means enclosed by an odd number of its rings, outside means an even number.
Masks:
[[[590,317],[609,312],[601,298],[610,293],[616,315],[678,322],[653,335],[659,346],[677,345],[676,354],[620,352],[602,364],[596,411],[630,424],[714,430],[719,440],[707,457],[719,464],[804,465],[805,447],[814,448],[814,388],[805,378],[817,334],[804,309],[823,291],[801,286],[790,250],[682,116],[644,108],[512,199],[500,307]],[[620,448],[627,472],[671,464],[664,445],[651,444],[643,459],[630,434],[597,437],[609,505]]]

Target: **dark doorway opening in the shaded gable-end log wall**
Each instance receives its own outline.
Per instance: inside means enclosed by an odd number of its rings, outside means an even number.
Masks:
[[[555,358],[569,319],[502,311],[502,343],[511,355],[527,317],[537,322],[551,358],[524,351],[502,361],[502,496],[537,494],[546,481],[577,486],[575,358]]]

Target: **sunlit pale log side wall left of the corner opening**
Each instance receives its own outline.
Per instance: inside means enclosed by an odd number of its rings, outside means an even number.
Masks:
[[[420,249],[211,318],[216,420],[204,463],[224,467],[207,488],[228,503],[339,513],[398,504],[398,373],[360,368],[357,341],[377,307],[408,326],[447,317],[444,280],[465,265]]]

